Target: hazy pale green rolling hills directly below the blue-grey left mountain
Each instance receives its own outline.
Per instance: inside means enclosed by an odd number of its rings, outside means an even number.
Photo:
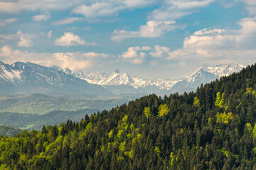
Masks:
[[[0,98],[0,113],[26,113],[46,114],[51,111],[79,111],[85,108],[111,109],[117,105],[128,102],[129,98],[110,98],[107,100],[77,100],[63,97],[32,94],[30,96]],[[1,118],[1,117],[0,117]]]

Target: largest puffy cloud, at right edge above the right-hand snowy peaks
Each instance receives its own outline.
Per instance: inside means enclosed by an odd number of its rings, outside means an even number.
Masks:
[[[243,18],[240,30],[205,28],[183,40],[183,47],[169,52],[168,59],[251,60],[256,57],[256,17]]]

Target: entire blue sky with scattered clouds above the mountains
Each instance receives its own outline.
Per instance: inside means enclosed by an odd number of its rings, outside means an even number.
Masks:
[[[254,64],[256,0],[0,0],[0,61],[176,79]]]

